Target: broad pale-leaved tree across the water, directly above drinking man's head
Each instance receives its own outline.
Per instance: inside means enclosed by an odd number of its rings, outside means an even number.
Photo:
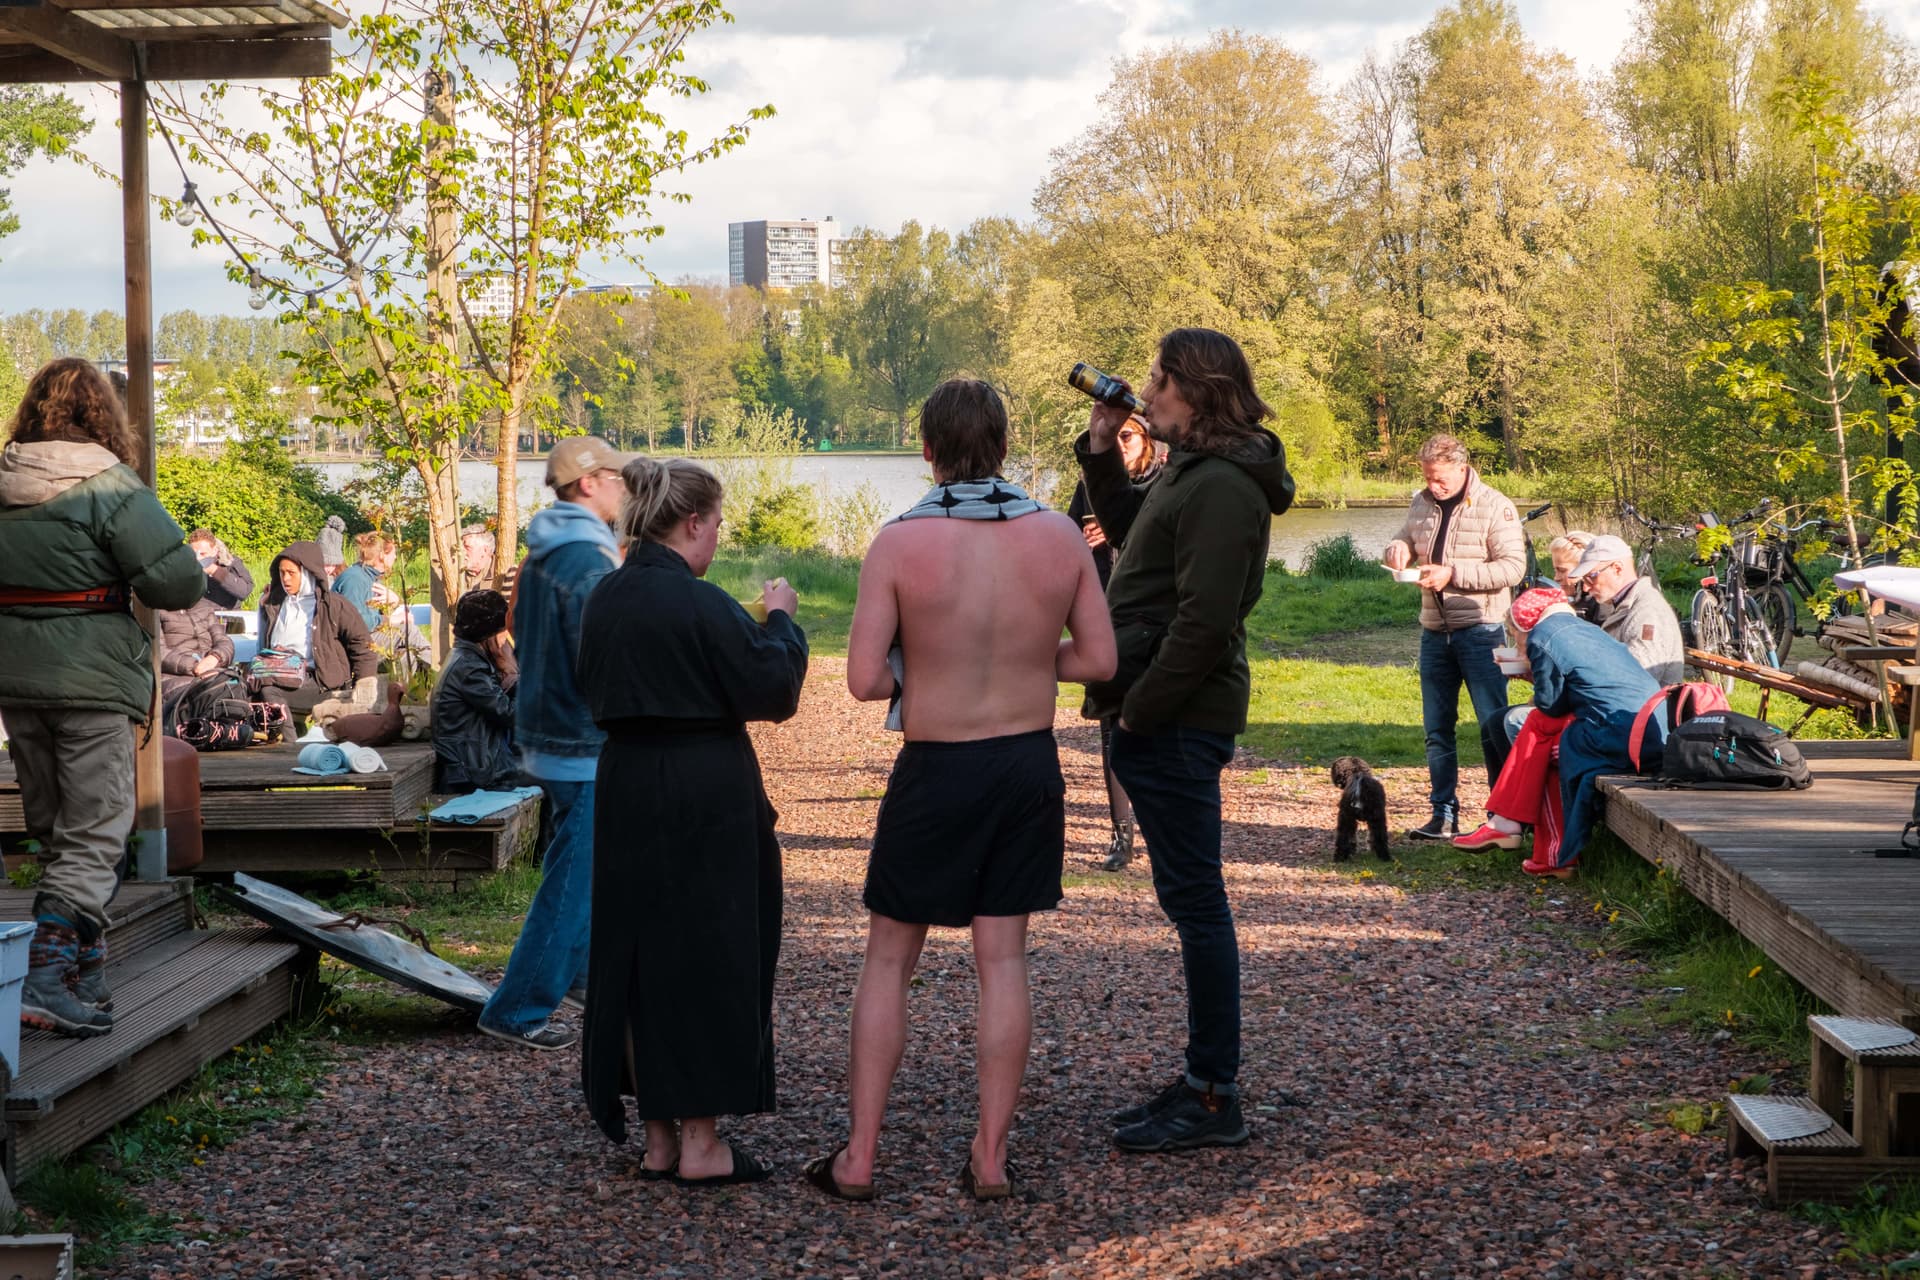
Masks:
[[[1117,61],[1100,107],[1033,200],[1089,359],[1140,378],[1162,332],[1212,324],[1269,384],[1319,395],[1332,127],[1313,63],[1223,31]]]

